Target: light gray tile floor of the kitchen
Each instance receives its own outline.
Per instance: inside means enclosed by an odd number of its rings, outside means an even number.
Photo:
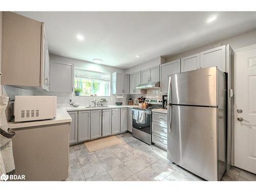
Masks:
[[[90,153],[83,143],[70,146],[67,181],[202,181],[173,164],[166,151],[130,133],[116,135],[124,143]],[[223,181],[256,181],[256,175],[232,167]]]

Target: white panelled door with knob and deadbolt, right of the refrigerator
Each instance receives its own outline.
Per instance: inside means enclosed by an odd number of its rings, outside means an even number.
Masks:
[[[234,165],[256,174],[256,45],[234,51]]]

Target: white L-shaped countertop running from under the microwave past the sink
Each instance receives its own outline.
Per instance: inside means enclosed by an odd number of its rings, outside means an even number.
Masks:
[[[86,111],[86,110],[102,110],[102,109],[115,109],[115,108],[136,108],[138,105],[108,105],[107,107],[97,107],[97,108],[84,108],[84,106],[74,106],[57,108],[56,118],[48,120],[38,120],[38,121],[26,121],[26,122],[8,122],[10,129],[18,129],[22,127],[31,127],[31,126],[41,126],[57,123],[67,123],[71,122],[72,118],[68,114],[68,111]]]

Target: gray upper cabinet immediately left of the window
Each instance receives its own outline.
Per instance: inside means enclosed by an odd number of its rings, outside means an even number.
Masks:
[[[54,60],[50,62],[50,91],[73,92],[74,66]]]

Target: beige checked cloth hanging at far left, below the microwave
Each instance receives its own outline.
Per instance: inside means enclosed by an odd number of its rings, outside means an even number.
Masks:
[[[0,175],[12,175],[15,173],[15,165],[12,152],[12,137],[15,132],[8,129],[5,110],[9,97],[0,95]]]

